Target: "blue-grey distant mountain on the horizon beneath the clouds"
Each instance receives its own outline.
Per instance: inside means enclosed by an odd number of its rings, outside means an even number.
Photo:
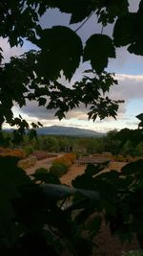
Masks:
[[[52,126],[45,128],[37,128],[39,135],[65,135],[65,136],[80,136],[80,137],[102,137],[105,134],[84,128],[72,128]]]

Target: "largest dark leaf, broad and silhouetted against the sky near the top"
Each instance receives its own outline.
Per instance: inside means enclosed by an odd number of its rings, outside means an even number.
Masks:
[[[41,38],[34,42],[42,50],[38,58],[41,75],[54,80],[63,70],[66,78],[71,80],[82,55],[80,37],[70,28],[55,26],[44,30]]]

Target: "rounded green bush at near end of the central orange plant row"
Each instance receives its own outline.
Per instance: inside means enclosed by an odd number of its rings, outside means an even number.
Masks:
[[[68,169],[69,168],[63,163],[53,163],[50,168],[50,172],[52,175],[61,177],[62,175],[65,175],[68,172]]]

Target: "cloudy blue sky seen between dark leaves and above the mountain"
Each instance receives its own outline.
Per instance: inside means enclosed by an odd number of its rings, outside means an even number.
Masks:
[[[131,12],[136,12],[139,0],[130,0]],[[55,25],[69,25],[70,15],[60,13],[58,10],[47,12],[41,18],[41,25],[43,28],[52,27]],[[71,25],[72,30],[77,29],[79,24]],[[96,24],[96,17],[92,16],[85,25],[78,30],[78,35],[81,36],[83,42],[89,38],[90,35],[100,33],[101,25]],[[112,26],[104,29],[104,34],[112,35]],[[7,39],[0,38],[0,47],[4,50],[5,60],[9,61],[10,56],[18,56],[29,51],[34,46],[30,42],[25,41],[24,46],[10,48]],[[82,71],[88,66],[87,63],[81,65],[72,78],[71,84],[74,81],[80,80]],[[125,47],[116,50],[116,58],[110,58],[107,71],[115,73],[115,78],[118,80],[118,85],[112,86],[109,96],[112,100],[124,100],[118,110],[116,120],[113,118],[106,118],[102,121],[97,119],[94,123],[88,120],[87,109],[83,105],[72,110],[62,121],[54,117],[53,111],[48,111],[44,107],[39,107],[35,102],[27,103],[27,106],[19,109],[14,106],[14,115],[19,113],[28,122],[40,121],[44,126],[71,126],[76,128],[88,128],[95,131],[107,132],[113,128],[137,128],[138,120],[135,118],[137,114],[143,112],[143,57],[129,54]],[[65,85],[69,85],[64,78],[62,81]]]

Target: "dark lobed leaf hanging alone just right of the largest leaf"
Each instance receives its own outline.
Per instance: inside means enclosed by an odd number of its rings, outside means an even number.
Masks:
[[[92,68],[100,74],[107,67],[108,58],[115,58],[112,38],[108,35],[92,35],[86,42],[84,61],[91,60]]]

